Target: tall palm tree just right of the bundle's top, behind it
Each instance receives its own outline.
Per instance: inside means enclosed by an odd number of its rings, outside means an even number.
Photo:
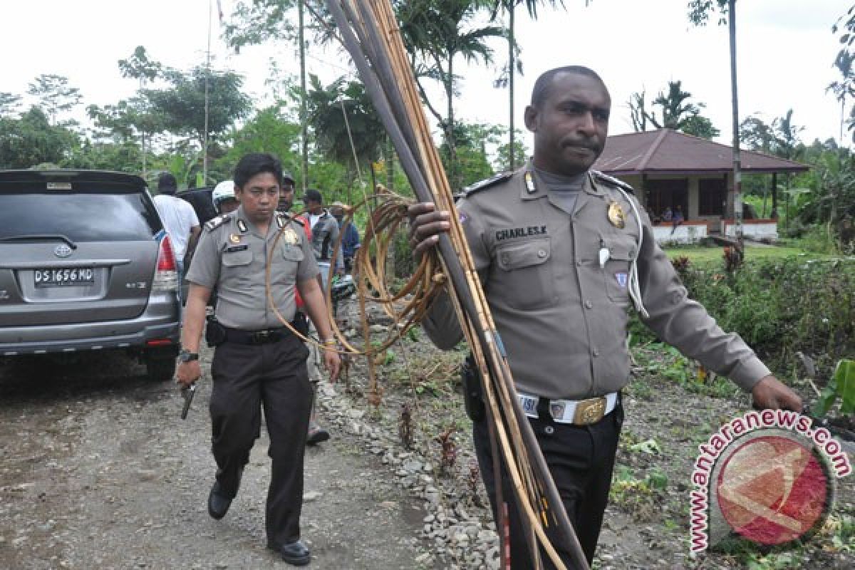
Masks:
[[[492,63],[492,49],[486,40],[506,37],[505,28],[470,26],[473,17],[490,5],[488,0],[411,0],[399,4],[401,33],[411,55],[420,60],[414,67],[422,98],[445,134],[452,187],[459,186],[454,144],[454,96],[458,79],[455,75],[455,59],[463,56],[468,63]],[[445,116],[425,97],[421,85],[421,79],[424,78],[436,79],[442,84],[447,103]]]

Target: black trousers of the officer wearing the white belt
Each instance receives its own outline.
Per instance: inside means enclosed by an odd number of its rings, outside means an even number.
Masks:
[[[475,454],[478,456],[478,464],[481,467],[481,477],[484,479],[484,486],[490,497],[493,517],[498,521],[487,421],[485,418],[473,424],[472,437],[475,441]],[[540,450],[555,481],[570,523],[590,564],[593,561],[594,550],[597,548],[605,506],[609,501],[617,439],[623,423],[622,405],[618,403],[611,414],[590,426],[559,424],[548,416],[529,418],[529,422],[540,444]],[[522,516],[516,507],[511,489],[510,476],[505,470],[503,460],[502,495],[504,502],[508,504],[511,567],[514,570],[525,570],[533,566],[526,534],[521,524]],[[547,527],[546,534],[551,539],[551,543],[556,546],[564,565],[573,568],[569,553],[561,549],[554,538],[556,536],[554,530],[555,526]],[[554,568],[543,549],[540,549],[540,559],[545,568]]]

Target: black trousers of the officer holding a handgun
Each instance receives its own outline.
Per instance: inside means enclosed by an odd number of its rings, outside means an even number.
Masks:
[[[261,408],[270,436],[273,468],[265,526],[268,545],[300,538],[303,460],[312,405],[306,368],[309,350],[288,335],[270,344],[219,345],[211,363],[211,450],[221,490],[233,497],[261,429]]]

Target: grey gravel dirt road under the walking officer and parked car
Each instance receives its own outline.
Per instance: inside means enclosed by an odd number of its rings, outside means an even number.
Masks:
[[[208,516],[209,390],[182,421],[174,385],[120,357],[0,366],[0,568],[289,567],[265,548],[266,433],[226,518]],[[378,463],[341,433],[307,450],[311,567],[420,566],[424,514]]]

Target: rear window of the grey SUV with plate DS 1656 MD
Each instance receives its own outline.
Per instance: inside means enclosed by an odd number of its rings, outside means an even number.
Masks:
[[[162,229],[139,191],[0,192],[0,238],[62,234],[73,241],[151,239]]]

